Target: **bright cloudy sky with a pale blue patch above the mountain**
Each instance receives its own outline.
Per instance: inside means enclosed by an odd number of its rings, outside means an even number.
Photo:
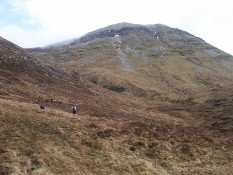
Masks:
[[[121,22],[179,28],[233,55],[231,0],[0,0],[0,36],[23,48]]]

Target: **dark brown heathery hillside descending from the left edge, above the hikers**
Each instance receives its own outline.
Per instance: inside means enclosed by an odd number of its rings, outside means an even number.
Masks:
[[[73,91],[86,91],[83,86],[79,76],[71,75],[0,38],[0,97],[31,102],[54,99],[71,103],[75,98],[69,98]]]

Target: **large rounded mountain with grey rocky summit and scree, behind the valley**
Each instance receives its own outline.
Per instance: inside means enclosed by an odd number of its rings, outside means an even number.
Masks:
[[[165,25],[116,24],[62,47],[33,49],[107,89],[177,102],[204,102],[232,86],[233,57]]]

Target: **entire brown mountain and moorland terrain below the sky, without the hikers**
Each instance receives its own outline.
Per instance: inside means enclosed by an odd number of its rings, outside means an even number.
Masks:
[[[161,24],[0,38],[0,174],[230,175],[232,60]]]

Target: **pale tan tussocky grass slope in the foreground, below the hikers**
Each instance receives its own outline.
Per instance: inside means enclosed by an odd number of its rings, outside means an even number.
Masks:
[[[0,99],[0,174],[231,174],[221,140],[115,123]]]

